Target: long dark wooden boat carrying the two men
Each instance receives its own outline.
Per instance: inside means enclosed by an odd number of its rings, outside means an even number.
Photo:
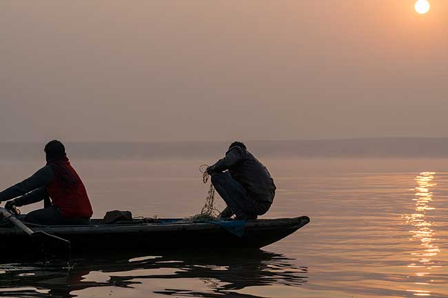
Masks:
[[[130,252],[134,250],[188,248],[261,248],[287,237],[309,223],[309,217],[247,220],[241,237],[211,222],[182,219],[134,219],[115,224],[92,220],[85,226],[28,225],[70,241],[72,253]],[[30,237],[18,228],[0,221],[0,251],[4,256],[34,254],[39,251]]]

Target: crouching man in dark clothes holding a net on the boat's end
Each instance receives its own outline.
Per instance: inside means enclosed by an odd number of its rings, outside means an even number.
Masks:
[[[232,142],[225,157],[208,167],[207,173],[227,204],[219,217],[236,215],[236,220],[255,220],[274,200],[274,180],[242,142]]]

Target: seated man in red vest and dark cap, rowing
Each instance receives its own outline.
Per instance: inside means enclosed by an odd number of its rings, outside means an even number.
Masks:
[[[5,209],[44,201],[44,208],[26,215],[36,224],[90,224],[92,205],[77,172],[71,166],[59,140],[45,145],[47,164],[30,178],[0,193]],[[12,200],[14,199],[14,200]]]

